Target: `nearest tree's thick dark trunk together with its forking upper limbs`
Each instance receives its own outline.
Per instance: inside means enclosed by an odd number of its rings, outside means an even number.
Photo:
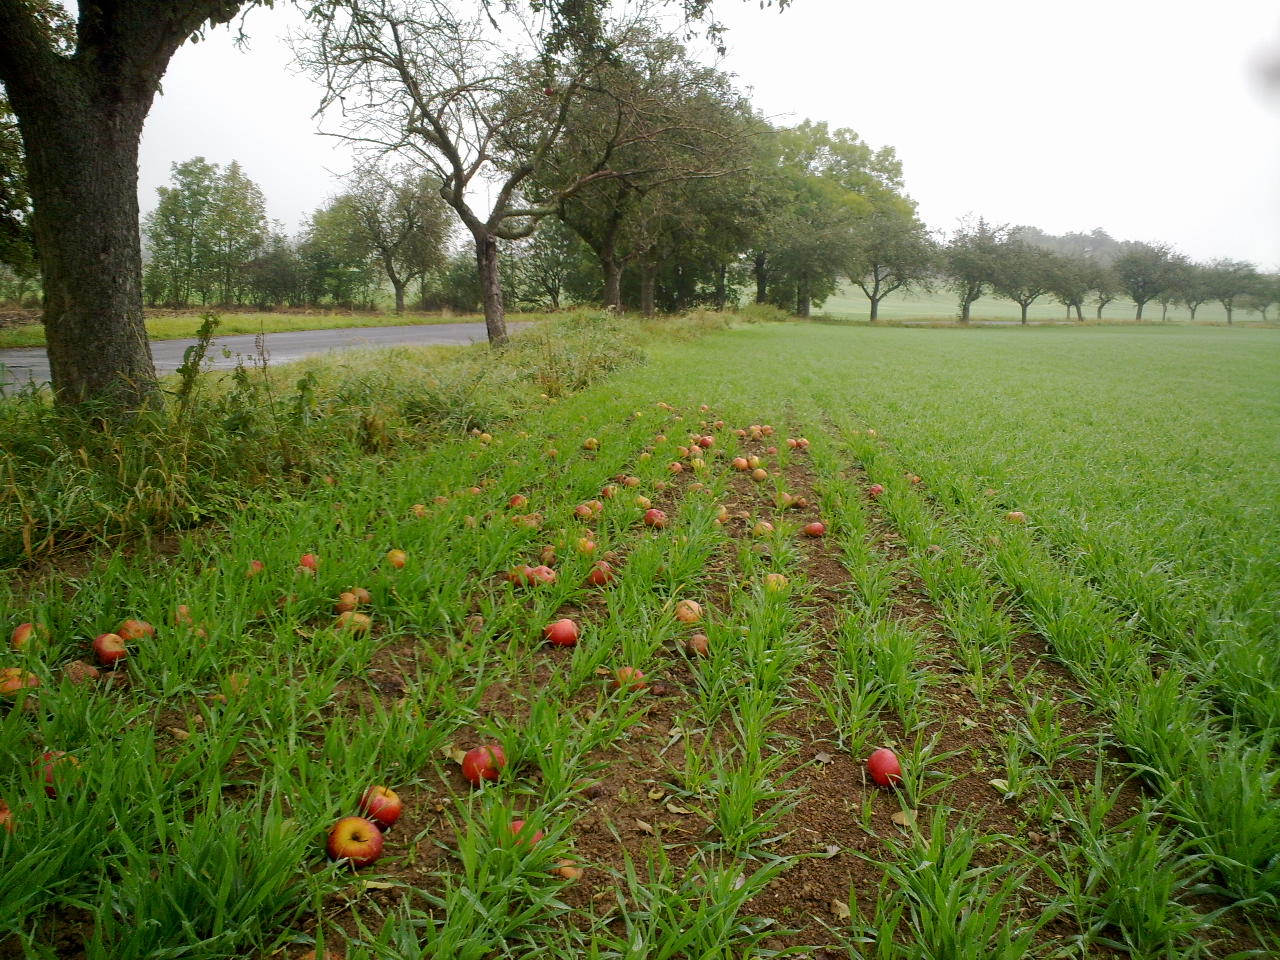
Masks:
[[[79,4],[74,55],[38,8],[0,0],[0,82],[27,154],[45,289],[45,338],[60,403],[127,411],[156,396],[142,323],[138,141],[174,51],[243,0]]]

